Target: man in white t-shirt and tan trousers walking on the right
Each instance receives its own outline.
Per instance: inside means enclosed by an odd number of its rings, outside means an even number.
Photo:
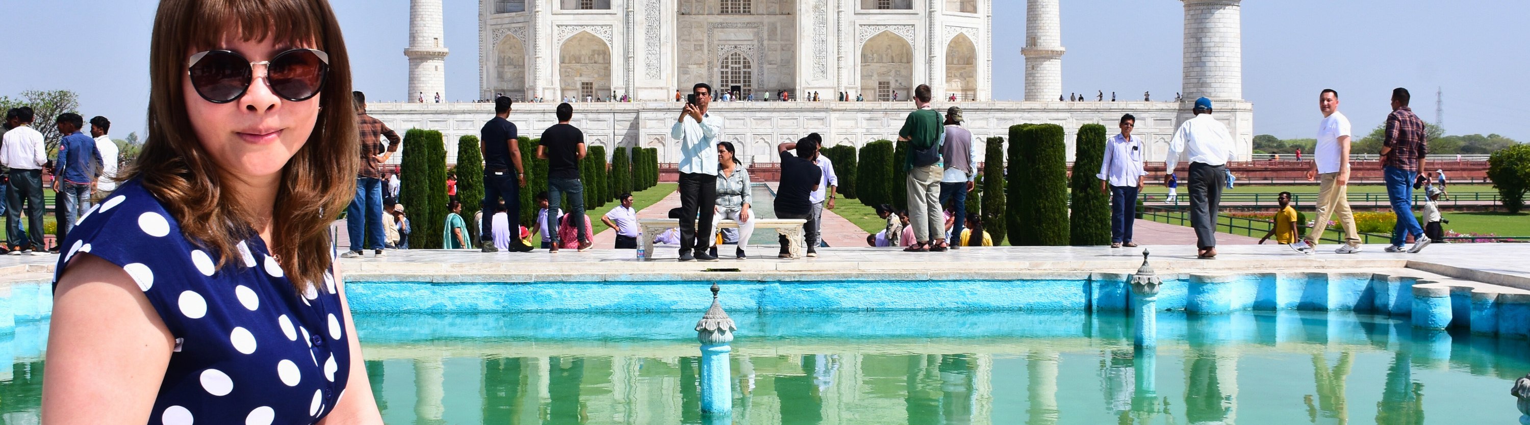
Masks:
[[[1328,222],[1339,212],[1343,225],[1345,245],[1334,249],[1339,254],[1360,252],[1360,232],[1354,226],[1354,211],[1349,209],[1349,119],[1339,112],[1339,92],[1323,89],[1317,93],[1317,110],[1323,113],[1317,125],[1317,148],[1313,150],[1313,170],[1307,180],[1322,179],[1317,190],[1317,216],[1307,238],[1291,243],[1302,254],[1317,252],[1317,238],[1328,229]]]

